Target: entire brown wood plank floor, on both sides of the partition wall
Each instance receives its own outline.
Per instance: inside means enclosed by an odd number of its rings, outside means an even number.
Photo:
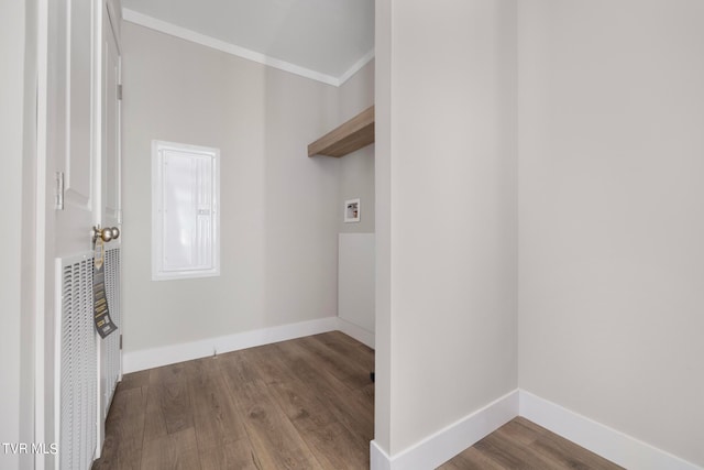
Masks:
[[[374,351],[329,332],[127,374],[105,469],[369,469]],[[618,469],[516,418],[440,467]]]

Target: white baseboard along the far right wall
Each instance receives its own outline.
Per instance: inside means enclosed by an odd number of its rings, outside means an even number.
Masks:
[[[622,467],[639,470],[701,470],[664,450],[520,391],[520,416]]]

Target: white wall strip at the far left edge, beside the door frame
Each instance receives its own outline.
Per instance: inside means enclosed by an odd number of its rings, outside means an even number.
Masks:
[[[33,1],[0,3],[0,441],[9,444],[34,440],[35,9]],[[0,467],[33,468],[33,459],[2,449]]]

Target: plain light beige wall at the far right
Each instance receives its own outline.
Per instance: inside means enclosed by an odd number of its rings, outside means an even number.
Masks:
[[[704,466],[704,3],[519,4],[519,385]]]

